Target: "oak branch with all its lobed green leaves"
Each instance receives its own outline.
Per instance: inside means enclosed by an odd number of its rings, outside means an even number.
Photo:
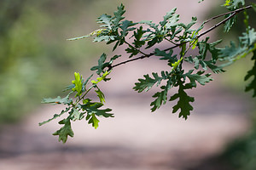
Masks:
[[[54,135],[58,135],[59,140],[65,143],[67,136],[73,137],[71,122],[85,119],[96,128],[99,123],[98,117],[112,117],[113,114],[110,113],[110,109],[100,109],[104,105],[105,96],[97,84],[110,80],[108,75],[115,67],[152,56],[166,61],[169,69],[160,71],[160,73],[153,72],[151,73],[152,76],[150,74],[143,75],[143,78],[139,78],[133,88],[138,93],[147,92],[154,86],[159,88],[159,91],[152,96],[154,101],[150,104],[151,111],[156,111],[161,105],[165,105],[167,101],[177,101],[172,107],[172,113],[178,112],[179,117],[187,119],[193,111],[191,103],[195,101],[194,97],[189,95],[189,90],[197,88],[198,84],[204,86],[207,82],[211,82],[213,80],[211,73],[224,72],[225,66],[246,57],[248,54],[253,54],[255,62],[253,69],[248,71],[245,77],[245,80],[253,77],[253,81],[249,83],[246,91],[253,90],[253,97],[255,97],[256,32],[248,25],[247,13],[244,14],[247,30],[238,38],[238,45],[235,42],[230,42],[230,46],[219,48],[218,46],[222,40],[211,42],[210,37],[201,38],[223,24],[224,31],[230,31],[231,27],[236,23],[237,14],[256,7],[255,4],[244,7],[244,4],[244,0],[226,0],[223,6],[229,12],[219,14],[197,27],[195,26],[197,23],[196,17],[192,17],[189,23],[180,22],[179,14],[176,14],[177,8],[172,8],[159,23],[153,23],[150,20],[140,22],[125,20],[125,7],[123,4],[118,7],[113,16],[102,14],[96,20],[101,25],[99,29],[83,37],[75,37],[70,40],[93,37],[94,42],[104,41],[107,44],[113,44],[113,51],[119,46],[125,46],[128,59],[114,64],[117,59],[123,56],[115,54],[108,59],[107,54],[102,54],[98,59],[97,65],[90,69],[91,71],[96,71],[98,75],[96,80],[89,81],[92,78],[90,76],[84,81],[82,76],[75,72],[73,84],[66,88],[66,91],[71,92],[65,98],[43,99],[43,103],[67,105],[67,108],[61,111],[59,115],[55,114],[55,116],[46,121],[52,121],[67,113],[67,118],[59,122],[63,127],[56,131]],[[224,19],[210,29],[202,31],[205,24],[220,17],[224,17]],[[155,48],[155,45],[161,42],[169,42],[170,47],[166,49]],[[174,53],[174,48],[177,48],[177,53]],[[144,49],[152,49],[152,53],[147,54]],[[190,50],[195,50],[197,53],[191,55],[189,53]],[[192,65],[193,69],[186,71],[183,68],[184,63]],[[88,88],[89,82],[91,82],[90,88]],[[92,99],[87,98],[87,94],[91,89],[95,89],[99,102],[93,102]],[[171,90],[175,89],[177,89],[176,93],[170,93]],[[75,94],[74,99],[71,99],[70,96],[73,93]],[[46,122],[42,122],[40,125]]]

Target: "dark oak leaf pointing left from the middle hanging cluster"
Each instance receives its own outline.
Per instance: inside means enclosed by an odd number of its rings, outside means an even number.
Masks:
[[[133,89],[135,89],[135,91],[137,91],[138,93],[141,93],[143,91],[148,91],[150,88],[152,88],[154,86],[155,83],[157,83],[157,86],[160,85],[160,82],[164,79],[166,79],[166,77],[159,77],[157,73],[153,72],[152,73],[154,78],[151,78],[147,75],[144,75],[143,77],[145,77],[145,79],[138,79],[139,82],[135,83],[135,87]]]

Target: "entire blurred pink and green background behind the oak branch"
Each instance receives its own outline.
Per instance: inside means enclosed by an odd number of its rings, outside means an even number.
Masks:
[[[58,120],[38,127],[62,109],[41,105],[42,98],[63,96],[74,71],[87,77],[103,52],[112,56],[104,43],[66,39],[94,31],[97,17],[113,14],[120,3],[125,4],[126,19],[134,21],[158,22],[174,7],[183,22],[225,12],[221,0],[0,0],[0,168],[256,169],[255,99],[244,93],[243,82],[253,65],[250,57],[190,92],[195,111],[187,121],[172,114],[172,103],[152,114],[154,90],[132,91],[143,74],[167,69],[148,59],[113,71],[112,81],[102,88],[115,117],[100,120],[97,130],[75,122],[74,139],[61,144],[51,135],[59,129]],[[236,41],[242,29],[226,36],[218,28],[212,36]]]

